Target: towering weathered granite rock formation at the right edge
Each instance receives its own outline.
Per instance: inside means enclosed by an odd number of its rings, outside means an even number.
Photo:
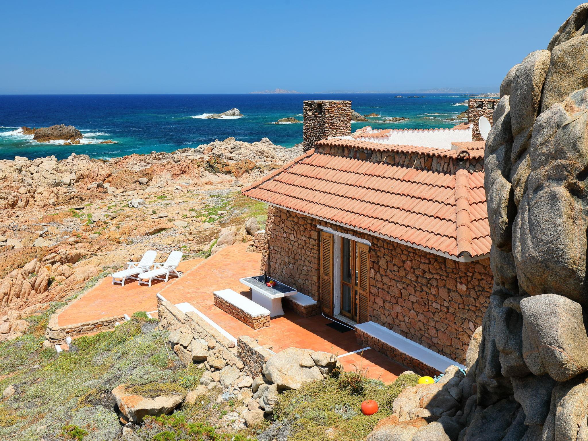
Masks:
[[[587,30],[583,4],[500,86],[485,154],[495,286],[477,360],[436,393],[457,405],[401,393],[388,426],[403,437],[386,439],[423,439],[422,421],[400,424],[420,417],[442,423],[432,441],[588,440]]]

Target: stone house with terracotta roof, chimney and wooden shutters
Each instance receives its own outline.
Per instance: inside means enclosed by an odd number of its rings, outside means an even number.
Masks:
[[[261,271],[410,368],[464,363],[493,284],[475,126],[351,133],[349,101],[303,109],[305,154],[242,191],[269,204]]]

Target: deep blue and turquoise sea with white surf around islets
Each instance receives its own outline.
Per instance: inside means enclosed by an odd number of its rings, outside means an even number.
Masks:
[[[399,98],[399,96],[401,98]],[[451,127],[447,121],[467,109],[465,94],[328,93],[242,95],[0,95],[0,159],[38,158],[71,152],[95,158],[131,153],[171,152],[234,136],[259,141],[264,136],[286,147],[302,141],[302,124],[276,124],[280,118],[302,120],[305,99],[349,99],[362,115],[377,113],[369,122],[352,124],[377,128]],[[238,108],[240,118],[206,119],[208,113]],[[408,121],[385,122],[402,116]],[[81,145],[38,143],[19,133],[22,126],[73,125],[84,138]],[[112,139],[116,143],[98,144]]]

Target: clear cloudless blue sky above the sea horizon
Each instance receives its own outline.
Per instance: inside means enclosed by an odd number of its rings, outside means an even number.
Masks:
[[[497,91],[578,1],[0,2],[0,94]]]

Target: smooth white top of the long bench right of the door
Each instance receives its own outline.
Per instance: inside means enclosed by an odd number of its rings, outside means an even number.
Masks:
[[[425,346],[419,345],[419,343],[413,342],[412,340],[403,337],[399,333],[384,328],[382,325],[378,325],[375,322],[359,323],[358,325],[355,325],[355,328],[362,330],[373,338],[386,343],[386,345],[398,349],[400,352],[403,352],[412,358],[420,360],[421,362],[425,363],[425,365],[431,366],[440,372],[445,372],[445,369],[452,365],[466,369],[465,366],[460,365],[454,360],[438,354],[429,348],[425,348]]]

